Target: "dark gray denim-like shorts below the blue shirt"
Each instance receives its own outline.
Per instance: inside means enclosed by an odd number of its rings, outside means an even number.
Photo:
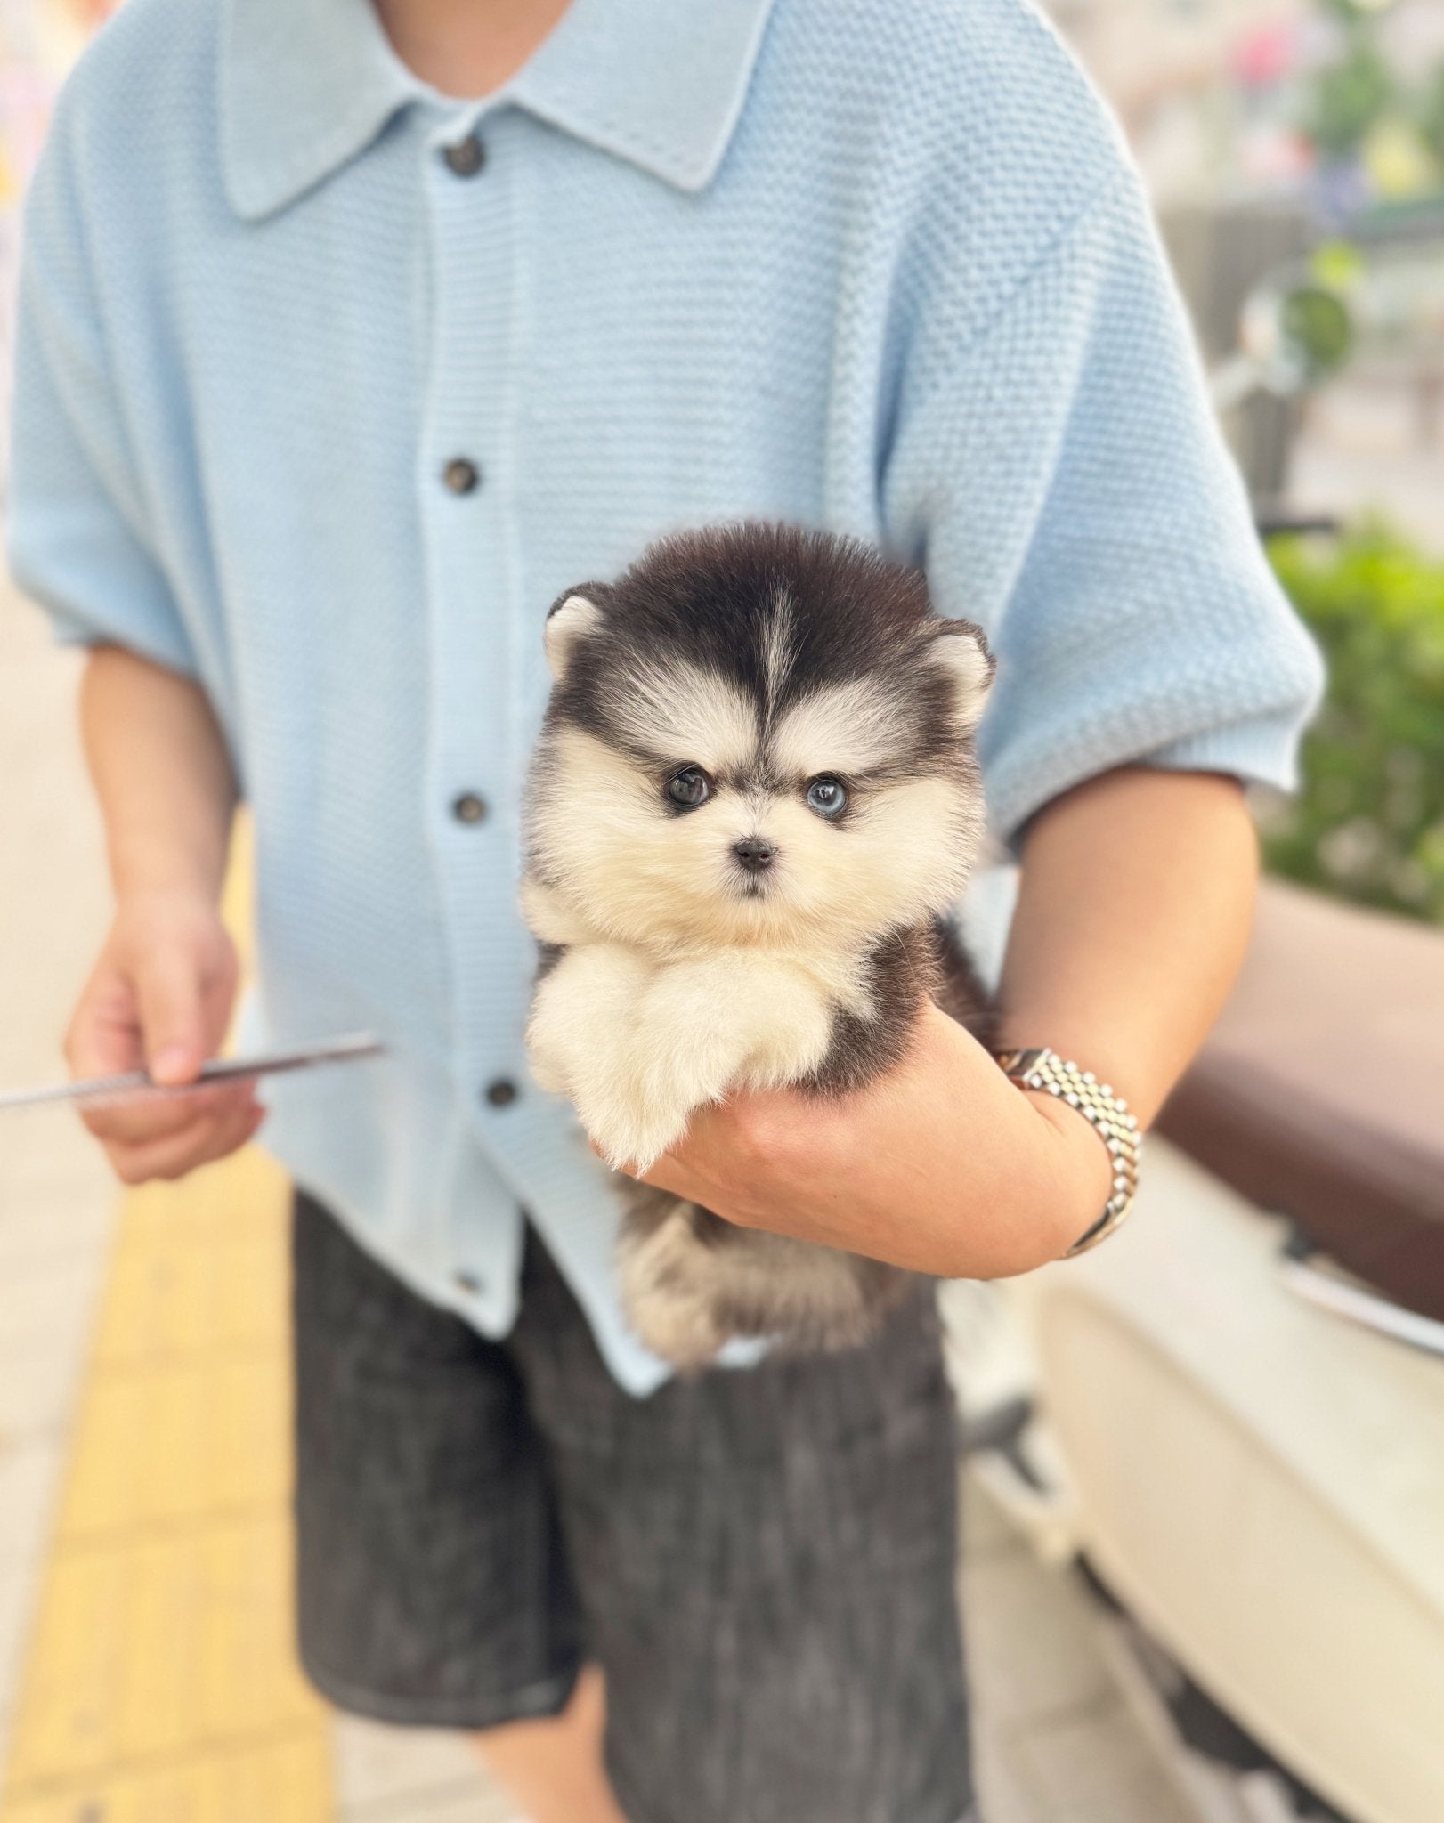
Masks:
[[[844,1354],[624,1393],[529,1234],[500,1344],[295,1205],[301,1657],[487,1728],[607,1679],[629,1823],[959,1823],[954,1413],[932,1298]]]

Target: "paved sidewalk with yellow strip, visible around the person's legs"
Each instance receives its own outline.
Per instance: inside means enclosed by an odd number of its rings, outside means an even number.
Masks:
[[[75,675],[0,596],[0,1085],[62,1074],[106,921]],[[122,1200],[71,1117],[2,1138],[0,1823],[505,1823],[465,1741],[292,1663],[275,1169]],[[986,1823],[1187,1823],[1079,1590],[966,1509]]]

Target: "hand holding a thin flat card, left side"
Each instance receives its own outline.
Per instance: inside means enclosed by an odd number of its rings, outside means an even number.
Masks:
[[[193,1081],[226,1034],[237,975],[235,946],[204,897],[151,893],[122,902],[66,1037],[71,1072],[146,1066],[157,1083]],[[82,1116],[124,1183],[180,1178],[224,1158],[263,1117],[250,1083]]]

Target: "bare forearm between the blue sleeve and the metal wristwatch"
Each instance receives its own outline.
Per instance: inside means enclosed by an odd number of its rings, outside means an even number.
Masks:
[[[1094,1070],[1147,1125],[1238,973],[1258,846],[1216,773],[1125,767],[1039,813],[1003,970],[1003,1043]]]

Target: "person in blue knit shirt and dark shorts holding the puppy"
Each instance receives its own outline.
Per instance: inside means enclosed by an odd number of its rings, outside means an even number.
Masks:
[[[935,1322],[669,1378],[607,1174],[529,1081],[542,618],[662,532],[846,532],[997,656],[999,1043],[1147,1125],[1238,966],[1240,780],[1318,664],[1118,135],[1025,0],[128,0],[27,215],[11,554],[91,649],[115,922],[77,1072],[387,1057],[93,1114],[129,1183],[297,1181],[301,1652],[469,1728],[532,1823],[974,1814]],[[928,1004],[853,1096],[704,1108],[729,1223],[1025,1272],[1112,1159]]]

